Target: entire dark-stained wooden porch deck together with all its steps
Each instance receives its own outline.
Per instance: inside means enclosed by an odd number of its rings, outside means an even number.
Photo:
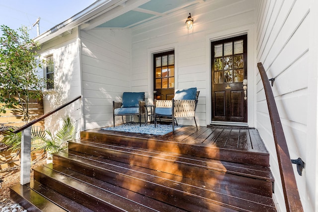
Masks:
[[[269,153],[255,129],[187,126],[164,136],[93,129],[80,137],[35,168],[30,184],[13,186],[11,197],[30,211],[276,211]]]

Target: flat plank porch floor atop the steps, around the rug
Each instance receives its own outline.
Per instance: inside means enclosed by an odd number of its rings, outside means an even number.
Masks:
[[[259,137],[255,128],[246,127],[228,127],[228,126],[211,126],[198,127],[194,126],[182,127],[174,132],[163,136],[154,136],[140,133],[126,133],[118,131],[104,131],[100,129],[88,130],[107,135],[128,136],[143,139],[154,139],[161,141],[181,142],[187,144],[197,144],[203,146],[213,146],[229,149],[238,149],[245,151],[265,152],[266,147]]]

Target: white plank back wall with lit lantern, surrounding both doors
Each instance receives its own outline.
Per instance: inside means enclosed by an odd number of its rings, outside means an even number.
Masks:
[[[242,27],[253,27],[254,6],[254,0],[201,1],[149,24],[133,28],[131,89],[147,91],[147,97],[151,101],[153,99],[151,55],[174,49],[175,89],[197,87],[200,96],[196,119],[201,126],[210,124],[211,44],[209,40],[206,41],[207,36],[212,34],[208,39],[213,40],[216,39],[213,35],[219,33],[222,35],[218,37],[220,40],[239,35]],[[191,30],[185,27],[189,12],[194,19]],[[231,30],[231,33],[228,30]],[[248,71],[253,73],[256,71],[255,67],[256,65],[250,67]],[[179,122],[185,125],[194,124],[193,119],[179,120]]]

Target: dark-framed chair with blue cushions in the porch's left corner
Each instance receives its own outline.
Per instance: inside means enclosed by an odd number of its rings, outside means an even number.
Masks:
[[[113,101],[113,122],[115,127],[115,116],[121,116],[123,123],[123,116],[137,115],[139,117],[139,126],[141,126],[141,115],[145,114],[145,92],[124,92],[122,102]]]

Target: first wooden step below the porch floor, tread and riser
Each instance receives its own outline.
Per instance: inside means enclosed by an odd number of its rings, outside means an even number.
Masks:
[[[214,180],[233,189],[272,197],[274,180],[267,167],[91,141],[71,141],[69,149],[195,180]]]

